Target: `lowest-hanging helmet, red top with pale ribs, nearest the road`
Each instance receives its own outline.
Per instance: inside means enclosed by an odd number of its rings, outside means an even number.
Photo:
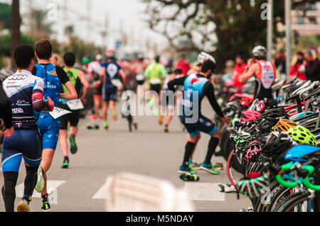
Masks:
[[[247,179],[249,177],[249,179]],[[247,175],[246,179],[237,182],[238,192],[250,198],[257,198],[262,195],[262,188],[266,188],[270,184],[267,174],[252,173]]]

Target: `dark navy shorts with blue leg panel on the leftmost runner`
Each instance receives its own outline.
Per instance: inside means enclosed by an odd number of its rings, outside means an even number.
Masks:
[[[14,130],[4,138],[2,171],[18,172],[23,157],[26,166],[36,167],[41,162],[41,136],[38,130]]]

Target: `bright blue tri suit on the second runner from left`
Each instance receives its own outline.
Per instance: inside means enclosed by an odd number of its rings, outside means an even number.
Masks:
[[[53,64],[37,64],[32,73],[44,81],[43,97],[50,97],[55,107],[59,107],[59,96],[61,84],[70,81],[62,67]],[[42,149],[53,149],[57,147],[60,118],[54,119],[49,113],[40,113],[38,127],[41,133]]]

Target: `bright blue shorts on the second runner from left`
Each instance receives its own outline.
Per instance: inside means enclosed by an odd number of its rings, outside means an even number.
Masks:
[[[54,119],[49,113],[41,113],[37,124],[42,139],[42,149],[55,150],[58,144],[60,118]]]

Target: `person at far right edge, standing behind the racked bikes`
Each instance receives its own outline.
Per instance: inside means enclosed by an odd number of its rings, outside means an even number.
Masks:
[[[311,81],[320,81],[320,62],[314,59],[312,53],[308,50],[304,54],[304,67],[306,67],[306,79]]]

